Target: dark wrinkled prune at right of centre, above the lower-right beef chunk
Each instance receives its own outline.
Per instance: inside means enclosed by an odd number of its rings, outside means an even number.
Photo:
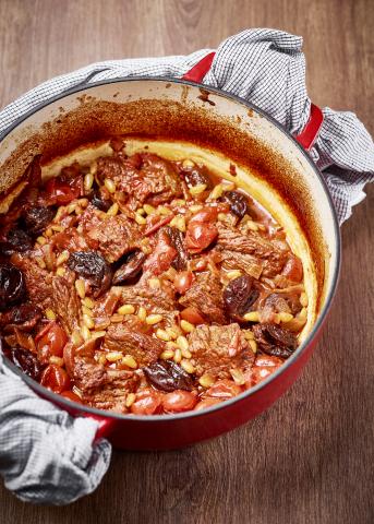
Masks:
[[[238,276],[231,281],[224,291],[224,302],[229,315],[240,320],[257,300],[258,290],[253,287],[250,275]]]

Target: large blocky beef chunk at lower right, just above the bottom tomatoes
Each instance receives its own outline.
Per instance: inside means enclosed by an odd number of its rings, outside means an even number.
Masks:
[[[254,354],[239,324],[198,325],[189,335],[189,344],[198,377],[209,373],[221,379],[230,378],[230,369],[245,372],[254,361]]]

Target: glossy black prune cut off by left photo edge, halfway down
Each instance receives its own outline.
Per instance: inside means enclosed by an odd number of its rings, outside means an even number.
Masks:
[[[11,263],[0,264],[0,311],[15,306],[26,297],[22,271]]]

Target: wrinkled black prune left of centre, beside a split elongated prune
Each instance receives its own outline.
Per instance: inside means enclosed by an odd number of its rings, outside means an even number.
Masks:
[[[75,251],[71,253],[68,266],[79,275],[87,278],[95,288],[94,297],[98,297],[111,284],[111,267],[101,254],[96,251]]]

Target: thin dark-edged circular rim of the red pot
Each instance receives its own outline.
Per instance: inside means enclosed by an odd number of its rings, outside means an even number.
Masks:
[[[192,418],[192,417],[201,417],[205,415],[210,415],[214,412],[218,412],[220,409],[229,408],[231,405],[241,402],[242,400],[250,397],[251,395],[254,395],[255,393],[260,392],[264,388],[266,388],[270,382],[273,382],[275,379],[280,377],[290,366],[292,366],[307,349],[307,347],[313,343],[314,338],[316,337],[317,333],[319,332],[327,312],[329,311],[331,307],[331,302],[334,299],[334,296],[337,290],[337,284],[339,279],[339,273],[340,273],[340,266],[341,266],[341,236],[340,236],[340,228],[339,228],[339,223],[338,223],[338,217],[336,214],[336,210],[333,203],[333,199],[330,196],[330,193],[328,191],[327,184],[325,182],[325,179],[323,178],[323,175],[321,174],[319,169],[317,166],[314,164],[312,160],[311,156],[307,154],[307,152],[302,147],[302,145],[297,141],[297,139],[281,124],[279,123],[274,117],[268,115],[266,111],[263,109],[258,108],[254,104],[245,100],[244,98],[241,98],[240,96],[232,95],[230,93],[226,93],[222,90],[219,90],[217,87],[210,87],[208,85],[202,84],[202,83],[196,83],[196,82],[190,82],[186,80],[182,79],[173,79],[170,76],[130,76],[130,78],[117,78],[117,79],[108,79],[108,80],[101,80],[98,82],[92,82],[89,84],[79,84],[75,85],[74,87],[70,87],[59,95],[53,96],[52,98],[37,105],[34,109],[27,111],[25,115],[22,117],[17,118],[11,126],[9,126],[1,134],[0,134],[0,143],[15,129],[17,128],[23,121],[27,120],[31,116],[35,115],[38,112],[40,109],[44,109],[45,107],[48,107],[49,105],[53,104],[57,100],[60,100],[67,96],[73,95],[75,93],[80,93],[81,91],[86,91],[93,87],[98,87],[100,85],[107,85],[107,84],[114,84],[114,83],[121,83],[121,82],[166,82],[166,83],[176,83],[176,84],[184,84],[184,85],[190,85],[191,87],[197,87],[197,88],[204,88],[207,92],[212,92],[215,95],[222,96],[224,98],[229,98],[230,100],[244,105],[245,107],[253,109],[255,112],[260,114],[263,116],[265,119],[267,119],[270,123],[276,126],[286,136],[288,140],[291,140],[294,145],[302,152],[309,164],[311,165],[312,169],[314,170],[315,175],[317,176],[321,186],[323,187],[323,190],[327,196],[328,205],[330,209],[331,217],[334,221],[334,235],[336,239],[336,265],[333,269],[333,278],[331,278],[331,284],[328,289],[325,305],[319,311],[318,318],[313,325],[312,331],[305,338],[305,341],[298,347],[298,349],[287,359],[287,361],[280,366],[277,371],[274,373],[269,374],[264,381],[260,382],[253,388],[250,388],[246,391],[243,391],[239,395],[220,402],[216,405],[213,405],[210,407],[201,409],[198,412],[195,410],[190,410],[190,412],[184,412],[180,414],[165,414],[165,415],[132,415],[132,414],[120,414],[116,412],[109,412],[105,409],[98,409],[96,407],[89,407],[83,404],[75,403],[73,401],[69,401],[64,398],[63,396],[59,395],[58,393],[53,393],[52,391],[48,390],[47,388],[44,388],[40,385],[38,382],[36,382],[34,379],[25,374],[23,371],[21,371],[15,365],[13,365],[11,361],[8,360],[8,358],[3,359],[4,366],[8,367],[12,372],[16,373],[23,381],[26,382],[27,385],[29,385],[34,391],[36,391],[40,396],[47,397],[50,400],[53,404],[58,404],[61,407],[67,407],[67,408],[74,408],[75,410],[79,410],[80,414],[92,414],[95,415],[96,417],[101,417],[101,418],[110,418],[114,420],[134,420],[137,422],[172,422],[176,419],[184,419],[184,418]]]

